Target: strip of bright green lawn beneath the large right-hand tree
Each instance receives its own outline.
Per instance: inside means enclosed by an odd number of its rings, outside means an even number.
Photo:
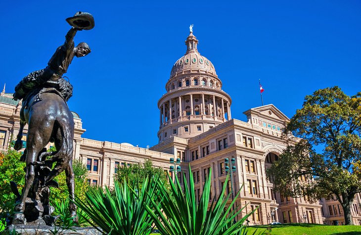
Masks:
[[[269,235],[361,235],[361,226],[357,225],[319,225],[319,224],[282,224],[282,225],[260,225],[249,226],[248,235],[253,234]]]

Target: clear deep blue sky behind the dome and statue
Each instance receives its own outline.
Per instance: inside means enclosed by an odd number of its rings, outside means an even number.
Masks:
[[[70,28],[65,18],[76,11],[95,19],[94,29],[75,37],[92,52],[74,58],[65,74],[74,86],[69,106],[82,118],[85,138],[141,147],[158,142],[157,101],[185,53],[190,24],[199,52],[232,98],[233,118],[245,121],[242,112],[261,105],[258,79],[265,104],[288,117],[317,89],[361,91],[360,0],[47,0],[1,4],[6,92],[46,66]]]

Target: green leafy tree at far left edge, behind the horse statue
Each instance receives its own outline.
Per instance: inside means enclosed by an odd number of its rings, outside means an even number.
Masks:
[[[20,192],[24,187],[25,163],[20,162],[21,155],[20,152],[10,149],[7,152],[0,152],[0,210],[2,204],[15,199],[10,188],[10,181],[17,184]]]

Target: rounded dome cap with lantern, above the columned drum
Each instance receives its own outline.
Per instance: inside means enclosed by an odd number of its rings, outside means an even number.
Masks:
[[[198,52],[197,44],[198,40],[191,32],[185,41],[187,51],[173,65],[171,78],[177,74],[184,73],[184,70],[203,70],[204,72],[217,75],[212,62]]]

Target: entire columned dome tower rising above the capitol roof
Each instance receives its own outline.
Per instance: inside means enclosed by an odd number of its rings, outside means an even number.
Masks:
[[[174,64],[166,84],[167,93],[158,101],[159,142],[172,136],[197,136],[231,119],[231,98],[206,57],[197,50],[198,40],[190,32],[187,51]]]

